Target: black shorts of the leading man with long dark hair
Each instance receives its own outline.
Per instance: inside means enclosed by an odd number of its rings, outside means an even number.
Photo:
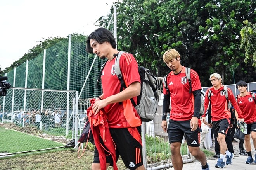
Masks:
[[[135,170],[143,165],[141,127],[109,129],[116,145],[116,162],[121,156],[126,168]],[[134,137],[133,137],[134,136]],[[102,143],[102,140],[100,141]],[[111,155],[106,152],[106,162],[113,166]],[[97,148],[94,151],[93,163],[100,163]]]

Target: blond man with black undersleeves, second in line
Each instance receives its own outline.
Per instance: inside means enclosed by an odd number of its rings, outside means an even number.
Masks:
[[[167,87],[163,89],[162,128],[168,133],[171,160],[175,170],[182,170],[183,163],[180,146],[184,134],[190,153],[202,164],[202,170],[209,170],[205,154],[200,150],[200,132],[198,127],[199,110],[201,105],[201,83],[197,73],[191,69],[192,93],[185,74],[185,67],[180,63],[180,54],[175,49],[166,51],[164,63],[171,69],[167,76]],[[194,96],[194,97],[193,97]],[[170,121],[167,127],[166,116],[170,105]]]

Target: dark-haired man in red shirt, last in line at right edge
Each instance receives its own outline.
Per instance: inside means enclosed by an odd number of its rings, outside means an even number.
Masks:
[[[237,104],[241,109],[244,122],[247,124],[247,134],[244,137],[245,147],[248,154],[248,158],[246,160],[247,164],[253,163],[252,156],[252,147],[250,142],[250,133],[253,139],[254,149],[256,151],[256,99],[253,99],[253,96],[250,92],[247,91],[247,84],[244,81],[239,81],[235,87],[240,91],[240,94],[237,95]],[[237,117],[237,111],[235,110],[235,116]],[[256,163],[256,154],[254,163]]]

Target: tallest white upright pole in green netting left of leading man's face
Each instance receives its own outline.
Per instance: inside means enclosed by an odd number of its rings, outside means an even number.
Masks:
[[[71,61],[71,34],[68,35],[68,55],[67,55],[67,90],[70,85],[70,61]],[[66,115],[66,136],[68,135],[68,117],[69,117],[69,92],[67,92],[67,115]]]

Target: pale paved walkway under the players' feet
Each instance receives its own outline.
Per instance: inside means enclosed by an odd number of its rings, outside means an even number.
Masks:
[[[252,145],[252,155],[254,159],[255,150],[253,147],[252,140],[251,140],[251,145]],[[251,165],[245,163],[248,156],[239,155],[239,142],[233,143],[233,148],[234,148],[235,156],[234,156],[232,165],[226,165],[226,167],[223,168],[223,170],[256,170],[255,163],[252,163]],[[210,148],[210,150],[213,150],[214,152],[214,148]],[[208,160],[207,162],[210,165],[211,170],[219,169],[215,167],[215,164],[217,163],[217,158],[216,160]],[[174,170],[174,168],[170,168],[168,170]],[[191,163],[185,163],[183,164],[183,170],[201,170],[201,163],[199,163],[197,160]]]

